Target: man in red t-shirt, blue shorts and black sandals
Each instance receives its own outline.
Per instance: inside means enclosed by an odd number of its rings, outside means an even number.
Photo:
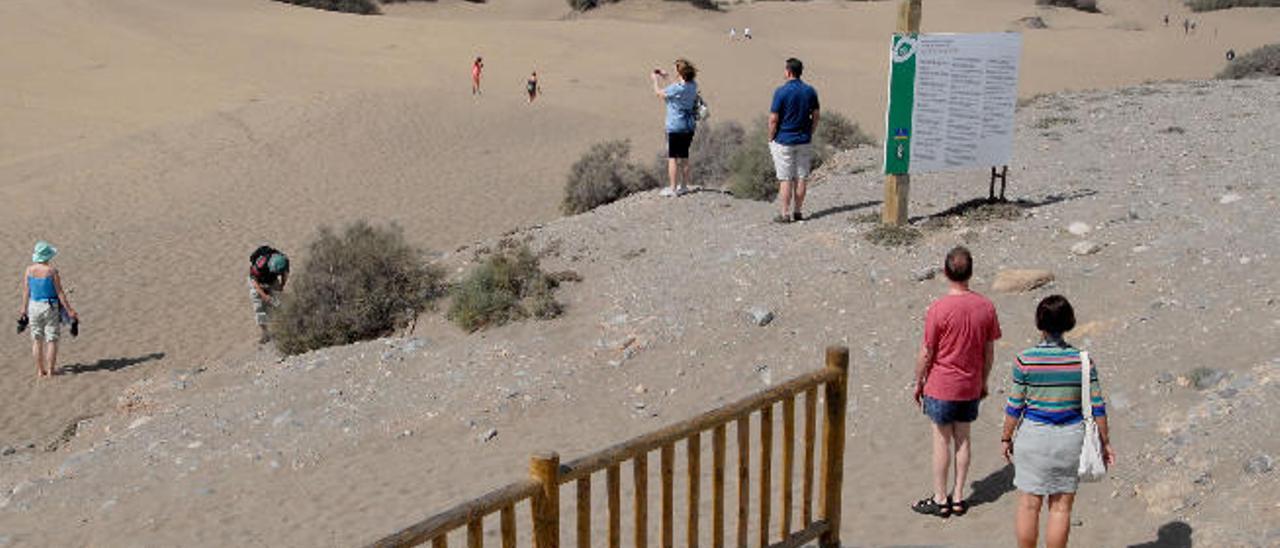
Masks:
[[[915,403],[933,424],[933,494],[911,510],[934,516],[969,511],[964,498],[969,475],[969,424],[987,397],[987,378],[1000,338],[996,305],[969,291],[973,255],[964,247],[947,252],[942,271],[950,280],[924,315],[924,343],[915,362]],[[955,484],[947,472],[955,461]]]

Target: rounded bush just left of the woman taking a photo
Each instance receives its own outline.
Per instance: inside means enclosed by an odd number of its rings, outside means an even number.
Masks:
[[[566,215],[590,211],[625,196],[658,187],[658,179],[630,161],[630,141],[605,141],[591,145],[573,166],[564,183]]]

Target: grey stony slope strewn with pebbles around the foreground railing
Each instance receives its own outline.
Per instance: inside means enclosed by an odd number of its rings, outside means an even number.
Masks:
[[[558,292],[563,318],[468,335],[436,314],[411,337],[154,374],[114,410],[0,457],[0,543],[361,544],[521,479],[534,451],[576,458],[818,367],[823,347],[846,344],[846,544],[1006,545],[1016,497],[998,456],[1000,394],[1012,352],[1034,343],[1034,303],[1061,292],[1080,319],[1069,338],[1097,359],[1120,453],[1103,483],[1082,489],[1075,545],[1275,545],[1280,438],[1263,433],[1280,428],[1270,275],[1280,154],[1260,134],[1280,131],[1277,91],[1280,81],[1190,82],[1041,99],[1019,115],[1009,197],[1020,205],[989,220],[948,213],[984,182],[920,177],[924,236],[910,247],[867,241],[881,196],[867,170],[874,150],[841,156],[801,224],[716,192],[646,192],[520,230],[511,238],[545,268],[582,275]],[[1257,133],[1233,131],[1242,119]],[[1069,232],[1076,223],[1084,236]],[[1071,251],[1085,241],[1098,248]],[[918,273],[959,242],[975,252],[974,287],[996,302],[1005,337],[995,398],[974,426],[975,507],[942,521],[908,510],[929,484],[911,357],[923,311],[945,291]],[[454,270],[498,245],[440,260]],[[997,271],[1027,268],[1055,282],[991,289]],[[776,319],[754,325],[755,307]],[[571,492],[561,499],[570,512]]]

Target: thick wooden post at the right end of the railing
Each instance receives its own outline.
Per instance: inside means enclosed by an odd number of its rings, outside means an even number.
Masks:
[[[827,369],[838,371],[826,388],[822,417],[822,519],[828,529],[818,539],[822,548],[840,548],[840,497],[845,480],[845,407],[849,394],[849,348],[828,347]]]

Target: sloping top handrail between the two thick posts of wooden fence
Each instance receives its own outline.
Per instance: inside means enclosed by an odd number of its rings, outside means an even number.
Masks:
[[[631,438],[613,447],[596,451],[568,463],[561,469],[561,483],[575,481],[579,478],[595,474],[609,465],[625,462],[636,455],[648,453],[668,443],[687,438],[690,434],[714,429],[722,424],[732,423],[740,416],[751,414],[762,407],[777,403],[783,398],[805,392],[809,387],[829,383],[840,378],[842,373],[831,369],[806,373],[777,387],[758,392],[753,396],[739,399],[727,406],[704,412],[692,419],[686,419],[660,430]]]

